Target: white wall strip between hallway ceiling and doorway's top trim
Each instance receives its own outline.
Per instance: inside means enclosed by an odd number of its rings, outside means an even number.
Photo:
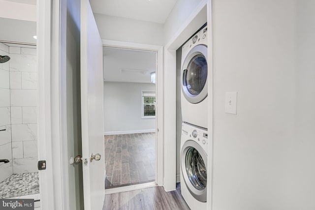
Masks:
[[[163,45],[163,24],[94,14],[101,39]]]

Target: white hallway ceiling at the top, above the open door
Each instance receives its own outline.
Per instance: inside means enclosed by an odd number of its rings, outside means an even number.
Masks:
[[[176,0],[90,0],[94,13],[164,24]]]

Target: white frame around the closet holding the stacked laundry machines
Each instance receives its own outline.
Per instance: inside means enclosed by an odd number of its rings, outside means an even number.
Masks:
[[[202,0],[195,9],[191,12],[189,17],[185,22],[178,27],[178,30],[169,39],[169,41],[164,45],[164,101],[167,101],[167,106],[164,107],[164,189],[166,191],[176,190],[176,50],[187,41],[187,39],[196,32],[199,27],[201,27],[206,22],[210,23],[210,12],[208,5],[210,5],[212,0]],[[207,11],[208,10],[208,11]],[[208,27],[209,28],[209,27]],[[210,36],[210,30],[208,30],[208,37]],[[209,46],[211,43],[211,38],[208,39],[208,60],[212,56]],[[212,69],[208,66],[208,78],[212,77]],[[209,84],[211,83],[211,84]],[[208,103],[212,104],[212,81],[208,80]],[[211,98],[211,99],[209,99]],[[208,112],[208,132],[212,134],[212,105],[208,106],[210,110]],[[213,134],[212,134],[213,135]],[[209,135],[209,136],[212,136]],[[209,137],[210,138],[210,137]],[[167,145],[166,145],[167,144]],[[209,139],[209,149],[212,151],[212,137]],[[211,147],[210,147],[211,145]],[[208,155],[208,168],[211,169],[211,155]],[[174,161],[173,161],[174,160]],[[212,170],[211,170],[212,173]],[[178,175],[179,176],[179,175]],[[207,185],[207,192],[210,193],[212,186],[212,174],[208,173],[208,180],[210,184]],[[209,197],[209,196],[208,196]],[[210,203],[207,206],[210,209]]]

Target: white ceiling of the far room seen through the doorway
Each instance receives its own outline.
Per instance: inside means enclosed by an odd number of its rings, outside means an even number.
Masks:
[[[156,71],[156,53],[119,48],[103,48],[104,81],[151,83]]]

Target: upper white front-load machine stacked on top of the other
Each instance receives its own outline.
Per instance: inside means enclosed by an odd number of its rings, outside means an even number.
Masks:
[[[182,118],[208,128],[208,49],[207,26],[197,31],[182,47],[181,107]]]

